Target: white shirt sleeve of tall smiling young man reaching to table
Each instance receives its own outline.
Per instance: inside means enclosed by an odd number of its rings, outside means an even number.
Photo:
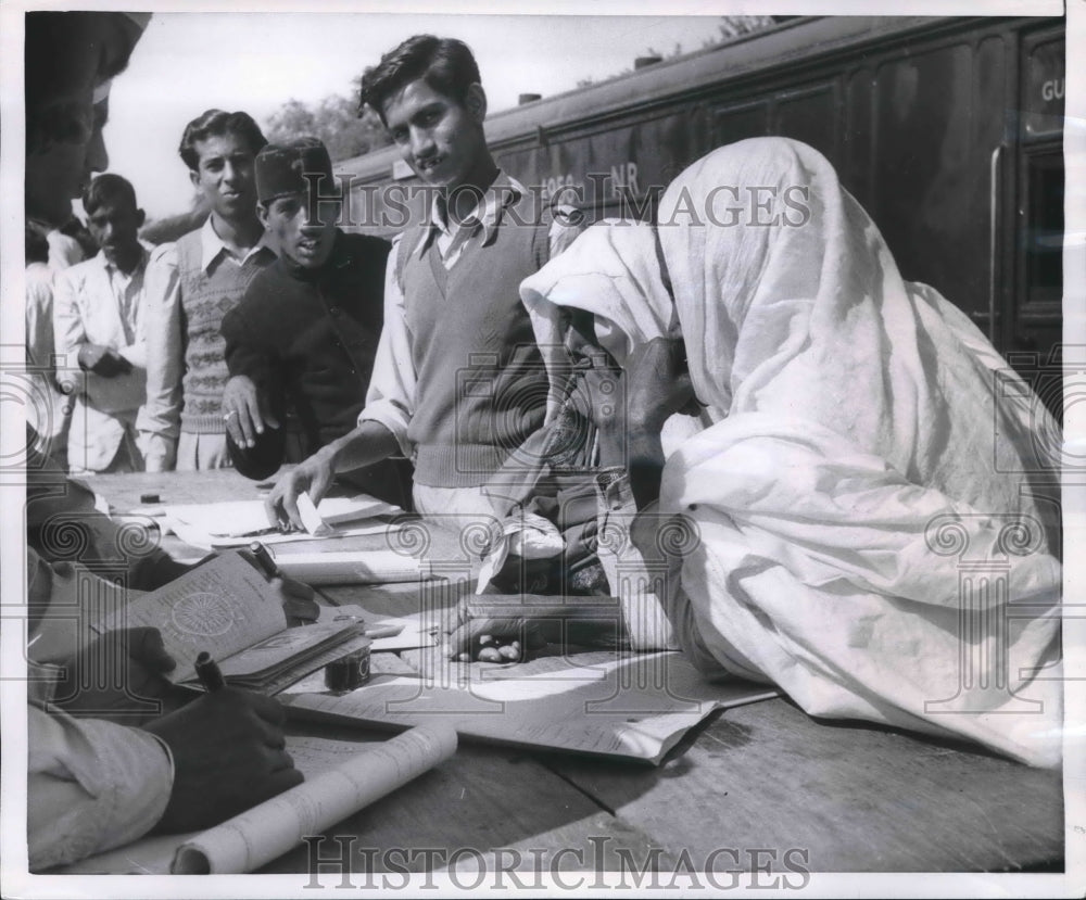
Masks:
[[[413,447],[407,440],[407,426],[415,413],[418,378],[412,362],[404,294],[396,280],[396,254],[401,252],[401,240],[402,236],[399,236],[393,241],[384,270],[384,326],[377,344],[366,406],[358,414],[358,423],[380,422],[395,436],[401,453],[411,457]]]

